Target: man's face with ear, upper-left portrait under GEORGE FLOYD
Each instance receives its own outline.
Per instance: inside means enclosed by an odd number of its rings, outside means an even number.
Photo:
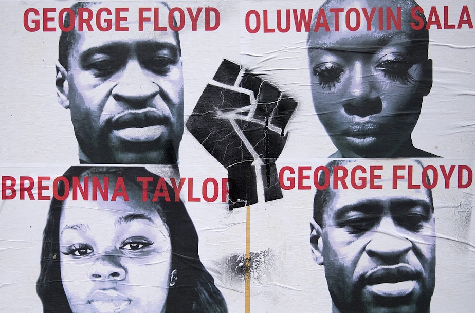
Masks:
[[[128,31],[75,33],[67,64],[58,65],[59,100],[70,109],[84,161],[175,164],[183,133],[178,35],[151,25],[139,31],[139,5],[127,7],[121,26]],[[161,3],[149,7],[168,14]]]

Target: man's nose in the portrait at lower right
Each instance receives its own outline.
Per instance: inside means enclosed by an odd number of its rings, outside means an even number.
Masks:
[[[412,242],[400,232],[391,217],[383,217],[379,225],[372,230],[371,241],[366,246],[366,253],[387,264],[399,263],[411,249]]]

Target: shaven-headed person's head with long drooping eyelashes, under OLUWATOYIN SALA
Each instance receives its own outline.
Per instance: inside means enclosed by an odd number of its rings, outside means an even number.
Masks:
[[[391,6],[396,14],[396,5],[372,0],[330,2],[326,12],[334,7],[371,11],[378,6]],[[312,97],[319,120],[338,149],[332,157],[431,156],[416,150],[411,140],[423,97],[431,87],[428,38],[410,27],[410,9],[401,10],[401,30],[394,25],[379,30],[375,14],[371,30],[364,17],[356,31],[348,30],[341,18],[339,31],[321,28],[309,34]],[[334,14],[327,17],[333,25]]]

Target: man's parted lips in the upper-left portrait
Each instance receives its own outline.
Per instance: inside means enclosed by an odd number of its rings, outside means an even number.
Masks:
[[[112,135],[126,141],[150,142],[158,139],[170,123],[168,115],[153,108],[126,111],[111,120]]]

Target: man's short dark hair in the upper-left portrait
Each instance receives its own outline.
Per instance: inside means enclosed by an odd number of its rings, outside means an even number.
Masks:
[[[71,10],[74,12],[75,17],[78,17],[78,11],[80,8],[89,8],[96,4],[100,4],[102,2],[77,2],[71,6]],[[170,11],[170,6],[168,3],[164,1],[158,2],[165,6]],[[65,28],[68,28],[71,24],[71,16],[69,12],[66,12],[64,15],[64,22],[63,25]],[[176,27],[178,24],[176,23],[175,16],[173,16],[173,25]],[[178,54],[181,56],[181,45],[180,45],[180,36],[178,31],[173,32],[176,40],[176,44],[178,46]],[[61,31],[59,43],[58,43],[58,61],[59,63],[68,70],[68,59],[71,53],[71,48],[74,44],[78,41],[78,31],[76,28],[72,29],[71,31]]]

